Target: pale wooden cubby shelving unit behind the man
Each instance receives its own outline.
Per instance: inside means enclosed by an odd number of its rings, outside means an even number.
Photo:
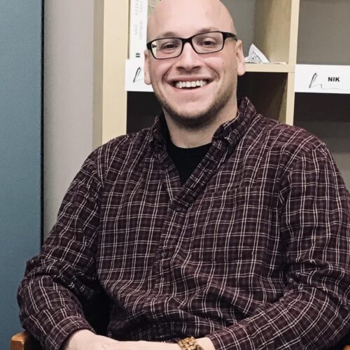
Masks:
[[[302,97],[295,94],[295,65],[350,64],[347,42],[350,36],[349,1],[323,0],[223,0],[235,19],[237,34],[244,42],[245,54],[251,43],[264,52],[270,62],[285,64],[247,64],[246,74],[239,78],[239,95],[247,95],[260,113],[282,123],[301,125],[317,131],[301,111],[302,104],[320,96]],[[136,131],[152,123],[158,103],[149,92],[125,92],[124,75],[127,59],[128,1],[98,1],[96,48],[102,55],[96,59],[96,81],[102,88],[95,91],[97,106],[94,139],[104,143],[126,132]],[[340,32],[340,34],[339,34]],[[332,50],[329,50],[332,48]],[[341,50],[339,50],[341,48]],[[347,63],[346,63],[347,62]],[[350,96],[350,95],[348,95]],[[295,102],[296,98],[296,102]],[[338,97],[339,99],[339,97]],[[349,99],[350,100],[350,99]],[[339,117],[339,127],[349,130],[350,101]],[[330,97],[337,104],[337,97]],[[349,101],[349,104],[348,104]],[[319,103],[322,106],[321,103]],[[296,106],[296,111],[295,111]],[[323,109],[325,108],[319,107]],[[319,113],[321,111],[318,111]],[[346,114],[347,113],[347,114]],[[329,127],[329,116],[320,114],[319,123]],[[334,127],[331,130],[335,130]],[[319,133],[318,133],[319,134]],[[320,135],[322,138],[322,135]],[[327,141],[329,141],[328,138]],[[348,186],[350,185],[350,138],[342,141],[341,152],[330,145],[340,162]],[[334,145],[333,145],[334,146]],[[338,143],[339,146],[339,143]],[[346,148],[344,150],[344,148]],[[337,156],[337,153],[342,153]],[[337,159],[338,158],[338,159]]]

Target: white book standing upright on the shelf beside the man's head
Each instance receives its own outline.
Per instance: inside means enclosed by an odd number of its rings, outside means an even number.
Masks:
[[[129,58],[143,58],[147,20],[160,0],[130,0]]]

